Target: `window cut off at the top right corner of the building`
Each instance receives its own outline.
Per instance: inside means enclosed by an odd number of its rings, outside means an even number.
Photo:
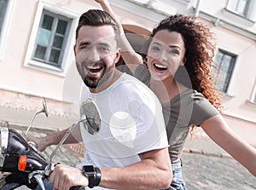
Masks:
[[[253,8],[252,0],[230,0],[228,3],[228,9],[247,18],[251,17],[251,8]]]

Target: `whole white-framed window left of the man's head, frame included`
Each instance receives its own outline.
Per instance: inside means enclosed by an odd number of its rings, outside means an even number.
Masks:
[[[78,19],[78,14],[40,1],[24,65],[65,75]]]

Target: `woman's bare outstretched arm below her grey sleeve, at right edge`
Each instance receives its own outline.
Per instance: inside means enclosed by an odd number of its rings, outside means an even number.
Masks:
[[[224,148],[253,176],[256,176],[256,149],[231,130],[221,115],[207,119],[201,124],[201,127],[218,146]]]

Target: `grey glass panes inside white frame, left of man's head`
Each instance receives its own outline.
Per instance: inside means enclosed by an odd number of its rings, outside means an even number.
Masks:
[[[44,10],[32,59],[61,68],[71,21],[67,17]]]

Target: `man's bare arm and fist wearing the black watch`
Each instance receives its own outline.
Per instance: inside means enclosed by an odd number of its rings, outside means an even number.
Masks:
[[[100,187],[113,189],[166,189],[172,182],[172,165],[167,148],[141,153],[142,161],[123,168],[100,168]],[[73,186],[88,186],[81,170],[58,164],[49,177],[54,189],[68,190]]]

